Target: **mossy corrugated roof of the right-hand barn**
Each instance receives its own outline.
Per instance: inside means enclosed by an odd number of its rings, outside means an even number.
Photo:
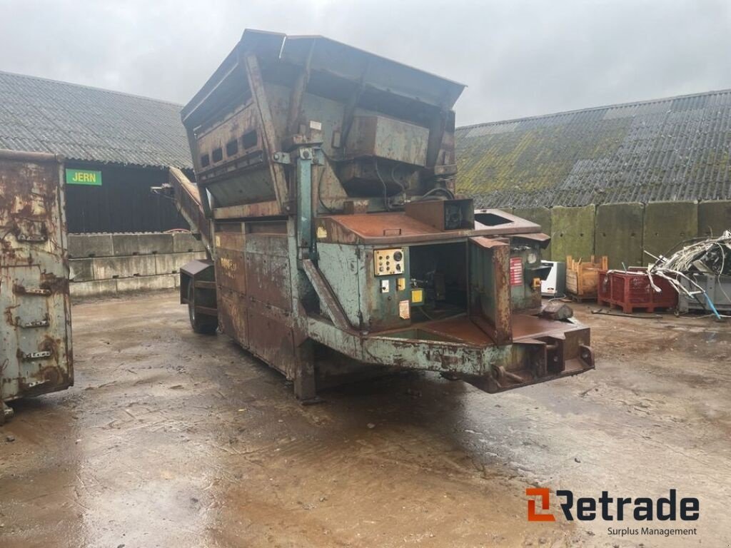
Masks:
[[[731,199],[731,90],[457,129],[480,207]]]

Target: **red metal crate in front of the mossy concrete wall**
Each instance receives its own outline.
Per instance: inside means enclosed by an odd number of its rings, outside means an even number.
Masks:
[[[645,308],[648,312],[654,312],[656,308],[675,308],[678,305],[678,293],[670,282],[656,275],[652,281],[660,288],[660,292],[650,285],[647,270],[599,270],[596,302],[619,306],[627,314],[635,311],[635,308]]]

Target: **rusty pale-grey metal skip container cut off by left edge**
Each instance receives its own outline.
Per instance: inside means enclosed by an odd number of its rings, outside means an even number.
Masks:
[[[0,150],[0,422],[74,381],[60,156]]]

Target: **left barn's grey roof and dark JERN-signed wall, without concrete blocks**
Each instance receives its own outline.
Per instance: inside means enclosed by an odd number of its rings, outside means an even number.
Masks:
[[[187,228],[150,192],[167,167],[192,176],[180,104],[0,72],[0,148],[66,159],[69,232]]]

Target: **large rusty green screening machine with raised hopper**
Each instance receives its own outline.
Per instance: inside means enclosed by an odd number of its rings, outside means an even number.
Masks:
[[[216,327],[302,399],[354,368],[499,392],[594,367],[539,314],[540,228],[455,196],[463,85],[323,37],[247,30],[182,118],[197,184],[168,191],[212,259],[181,270]]]

